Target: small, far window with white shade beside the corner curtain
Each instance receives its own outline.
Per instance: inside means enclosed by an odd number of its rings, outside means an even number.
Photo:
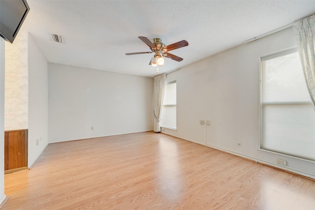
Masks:
[[[160,124],[176,129],[176,81],[165,84]]]

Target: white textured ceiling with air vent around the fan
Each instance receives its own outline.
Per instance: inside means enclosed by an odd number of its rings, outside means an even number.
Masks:
[[[27,0],[28,30],[48,62],[154,77],[153,54],[138,36],[166,45],[187,40],[159,72],[188,65],[315,13],[315,0]],[[64,44],[52,42],[63,35]]]

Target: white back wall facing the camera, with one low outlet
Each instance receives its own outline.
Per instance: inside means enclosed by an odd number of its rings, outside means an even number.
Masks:
[[[48,84],[50,143],[153,130],[153,78],[48,63]]]

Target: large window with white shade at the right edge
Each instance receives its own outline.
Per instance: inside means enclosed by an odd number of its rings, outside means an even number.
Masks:
[[[315,109],[299,55],[261,57],[260,149],[315,161]]]

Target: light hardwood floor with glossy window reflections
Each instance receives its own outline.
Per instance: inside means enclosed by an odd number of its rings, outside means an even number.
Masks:
[[[154,132],[50,144],[3,210],[314,210],[315,181]]]

